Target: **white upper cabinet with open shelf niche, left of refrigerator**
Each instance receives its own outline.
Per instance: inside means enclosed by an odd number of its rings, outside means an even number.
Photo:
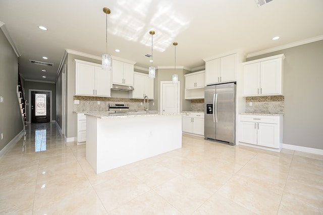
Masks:
[[[186,74],[185,99],[204,99],[205,71]]]

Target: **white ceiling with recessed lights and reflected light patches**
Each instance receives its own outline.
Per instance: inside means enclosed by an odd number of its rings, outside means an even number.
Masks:
[[[178,42],[176,65],[189,68],[232,50],[252,53],[323,35],[322,0],[274,0],[260,8],[255,0],[1,0],[0,21],[21,54],[23,78],[55,82],[65,49],[101,56],[104,7],[111,9],[108,53],[140,67],[150,65],[144,56],[151,53],[150,30],[156,32],[154,66],[174,66],[173,42]],[[281,38],[271,40],[274,36]],[[33,65],[29,59],[53,66]]]

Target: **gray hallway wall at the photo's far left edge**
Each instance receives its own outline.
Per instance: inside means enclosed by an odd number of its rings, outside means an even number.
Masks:
[[[0,96],[4,103],[0,103],[0,150],[23,130],[23,122],[17,98],[18,57],[0,30]]]

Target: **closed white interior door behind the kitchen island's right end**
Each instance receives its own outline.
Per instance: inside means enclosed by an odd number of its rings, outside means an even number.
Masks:
[[[160,112],[162,114],[180,112],[180,82],[160,82]]]

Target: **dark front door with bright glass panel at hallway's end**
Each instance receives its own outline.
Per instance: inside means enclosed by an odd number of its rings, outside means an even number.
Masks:
[[[31,123],[50,122],[50,93],[31,92]]]

